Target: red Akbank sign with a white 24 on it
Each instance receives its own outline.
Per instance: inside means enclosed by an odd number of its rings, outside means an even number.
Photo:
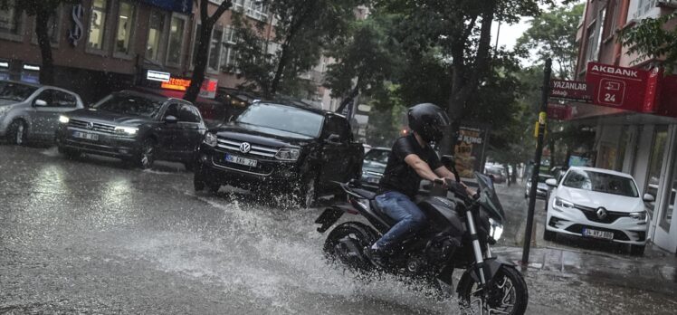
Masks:
[[[644,111],[649,72],[588,62],[586,82],[593,85],[593,102],[621,110]]]

